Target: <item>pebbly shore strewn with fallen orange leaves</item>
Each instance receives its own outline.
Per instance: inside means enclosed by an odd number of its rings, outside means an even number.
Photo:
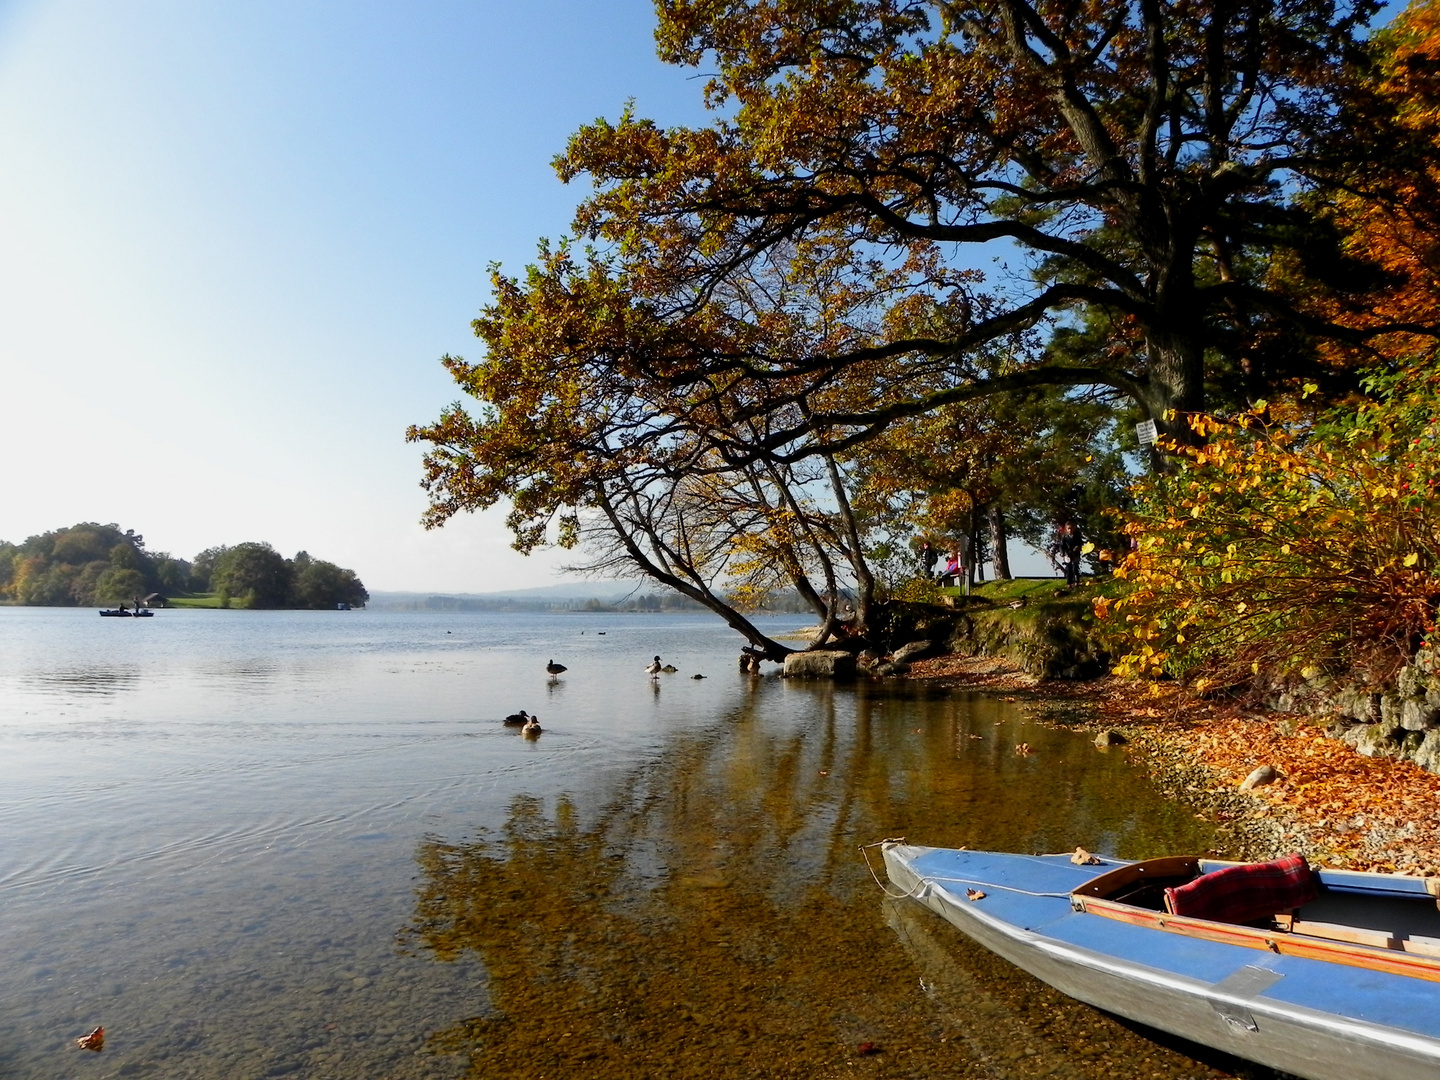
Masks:
[[[1299,851],[1320,865],[1440,873],[1440,776],[1359,755],[1354,736],[1316,716],[1253,713],[1115,677],[1041,680],[995,658],[917,660],[904,677],[999,694],[1043,723],[1104,736],[1096,753],[1139,756],[1168,796],[1217,822],[1217,855]],[[1273,779],[1243,791],[1263,766]]]

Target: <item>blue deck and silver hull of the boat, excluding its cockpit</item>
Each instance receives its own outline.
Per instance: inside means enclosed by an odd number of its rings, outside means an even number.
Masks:
[[[1070,893],[1113,860],[1074,865],[1067,855],[909,844],[887,844],[884,858],[907,896],[1096,1008],[1308,1080],[1440,1076],[1440,982],[1074,910]]]

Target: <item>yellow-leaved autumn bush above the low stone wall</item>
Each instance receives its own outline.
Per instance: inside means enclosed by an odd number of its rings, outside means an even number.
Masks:
[[[1149,482],[1116,569],[1126,588],[1097,600],[1120,672],[1382,685],[1433,644],[1440,363],[1365,386],[1313,425],[1266,406],[1189,419],[1205,445],[1178,446],[1181,469]]]

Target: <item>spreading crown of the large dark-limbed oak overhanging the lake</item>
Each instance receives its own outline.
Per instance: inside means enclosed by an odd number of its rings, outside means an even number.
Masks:
[[[592,248],[494,274],[487,356],[446,359],[477,415],[409,432],[432,446],[431,526],[507,500],[520,550],[582,521],[624,549],[675,498],[716,521],[696,500],[753,469],[842,468],[890,425],[1035,387],[1126,396],[1184,444],[1215,387],[1313,373],[1316,341],[1428,333],[1342,320],[1309,287],[1359,266],[1316,200],[1433,151],[1372,92],[1372,0],[657,10],[662,59],[714,72],[716,118],[626,109],[570,140],[556,167],[593,186]]]

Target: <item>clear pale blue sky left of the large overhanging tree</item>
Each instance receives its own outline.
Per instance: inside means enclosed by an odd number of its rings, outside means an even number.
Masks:
[[[701,122],[649,0],[0,0],[0,540],[266,540],[370,589],[544,585],[503,513],[418,524],[487,264],[628,98]]]

